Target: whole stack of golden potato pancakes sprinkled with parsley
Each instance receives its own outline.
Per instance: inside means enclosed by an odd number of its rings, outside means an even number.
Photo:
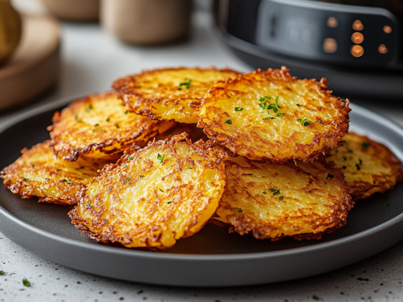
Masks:
[[[22,198],[76,205],[83,234],[169,248],[208,222],[257,239],[319,239],[353,200],[391,189],[401,164],[349,133],[349,101],[285,67],[165,68],[53,116],[50,140],[6,167]]]

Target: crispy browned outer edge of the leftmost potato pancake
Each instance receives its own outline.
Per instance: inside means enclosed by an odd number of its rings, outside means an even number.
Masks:
[[[36,145],[32,146],[35,147],[41,143],[37,143]],[[21,154],[24,154],[25,152],[27,152],[29,149],[28,148],[23,148],[21,150]],[[16,169],[13,164],[5,167],[1,172],[0,172],[0,177],[4,179],[4,185],[7,189],[9,189],[12,193],[14,194],[19,194],[21,196],[21,198],[23,199],[30,199],[32,197],[38,197],[36,195],[31,195],[29,193],[25,193],[25,192],[21,192],[21,184],[22,181],[17,181],[15,184],[11,183],[11,180],[7,178],[7,174],[13,174],[14,171],[18,171],[18,169]],[[77,183],[78,185],[81,186],[81,190],[83,190],[83,188],[85,188],[85,185]],[[79,195],[80,196],[80,195]],[[78,203],[78,199],[76,198],[72,198],[71,196],[66,196],[65,198],[61,199],[61,198],[53,198],[53,197],[38,197],[38,202],[47,202],[47,203],[54,203],[54,204],[60,204],[60,205],[75,205]]]

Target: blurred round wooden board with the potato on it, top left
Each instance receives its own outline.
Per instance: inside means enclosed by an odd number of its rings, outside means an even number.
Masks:
[[[44,15],[20,17],[5,4],[10,6],[0,0],[0,52],[2,59],[8,57],[0,65],[0,110],[16,107],[54,87],[60,65],[57,21]]]

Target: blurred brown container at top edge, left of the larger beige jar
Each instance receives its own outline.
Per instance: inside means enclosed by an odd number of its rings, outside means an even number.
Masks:
[[[94,22],[99,19],[100,0],[41,0],[46,10],[58,19]]]

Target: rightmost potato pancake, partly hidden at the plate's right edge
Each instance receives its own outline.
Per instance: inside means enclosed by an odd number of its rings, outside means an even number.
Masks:
[[[344,146],[326,160],[343,169],[353,200],[383,193],[401,181],[401,163],[386,146],[355,133],[343,139]]]

